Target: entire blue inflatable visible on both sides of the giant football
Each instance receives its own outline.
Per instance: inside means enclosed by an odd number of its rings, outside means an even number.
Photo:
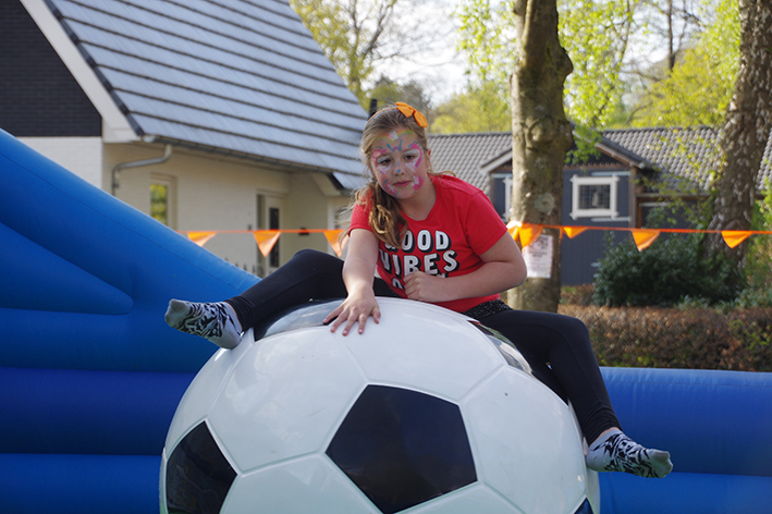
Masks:
[[[167,303],[257,279],[2,131],[0,273],[0,511],[157,513],[169,424],[217,350],[167,327]],[[602,371],[675,472],[601,474],[601,513],[770,512],[772,374]]]

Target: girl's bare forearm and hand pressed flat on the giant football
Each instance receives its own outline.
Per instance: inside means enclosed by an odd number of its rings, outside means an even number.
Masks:
[[[332,321],[331,331],[343,325],[343,335],[347,335],[354,323],[359,325],[358,332],[365,331],[367,318],[378,323],[381,310],[372,291],[372,280],[378,262],[378,238],[364,229],[354,229],[348,236],[348,253],[343,264],[343,282],[346,284],[346,299],[327,318],[324,323]],[[344,325],[345,323],[345,325]]]

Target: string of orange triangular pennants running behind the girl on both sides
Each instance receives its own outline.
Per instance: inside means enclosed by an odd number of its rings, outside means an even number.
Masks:
[[[626,227],[583,227],[583,225],[551,225],[522,223],[511,221],[506,225],[507,231],[515,241],[520,243],[522,247],[530,245],[539,238],[544,229],[555,229],[561,231],[561,235],[565,234],[568,238],[574,238],[588,230],[602,231],[626,231],[629,232],[635,241],[638,250],[642,252],[648,248],[661,233],[678,233],[678,234],[721,234],[724,242],[730,248],[734,248],[743,243],[751,235],[770,235],[772,231],[758,230],[697,230],[697,229],[634,229]],[[324,238],[329,243],[332,250],[339,257],[343,254],[343,244],[340,243],[342,229],[294,229],[294,230],[211,230],[211,231],[177,231],[186,235],[191,241],[198,246],[204,246],[217,234],[252,234],[255,237],[255,243],[260,253],[268,257],[273,246],[275,246],[279,237],[282,234],[324,234]]]

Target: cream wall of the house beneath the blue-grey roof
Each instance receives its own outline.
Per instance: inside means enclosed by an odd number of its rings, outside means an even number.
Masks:
[[[162,145],[106,144],[103,183],[110,184],[112,169],[119,163],[162,155]],[[174,147],[163,163],[121,170],[115,196],[149,215],[154,178],[168,178],[172,183],[175,217],[170,224],[179,231],[255,230],[258,194],[280,203],[281,229],[328,228],[328,198],[307,173],[272,171],[258,163]],[[258,254],[250,234],[221,233],[205,248],[247,271],[255,270]],[[298,249],[326,252],[328,244],[322,234],[284,234],[279,238],[279,248],[283,264]]]

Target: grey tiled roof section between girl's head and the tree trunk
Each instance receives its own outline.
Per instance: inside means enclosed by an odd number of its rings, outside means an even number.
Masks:
[[[429,148],[434,171],[452,171],[457,178],[489,193],[490,181],[483,167],[490,160],[511,151],[512,134],[440,134],[429,136]]]

